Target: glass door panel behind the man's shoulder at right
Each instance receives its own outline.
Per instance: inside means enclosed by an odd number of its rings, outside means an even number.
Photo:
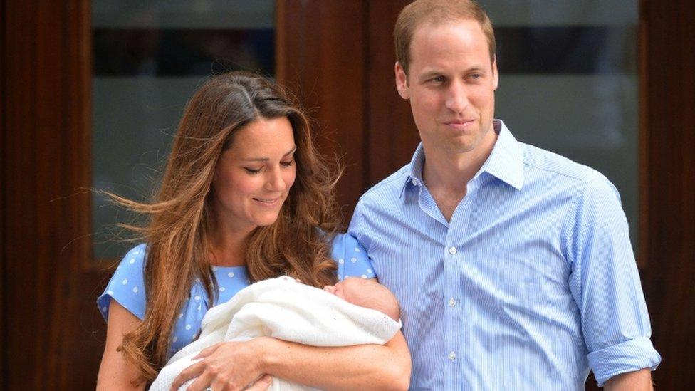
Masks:
[[[495,26],[496,117],[516,138],[599,170],[637,252],[637,0],[480,0]]]

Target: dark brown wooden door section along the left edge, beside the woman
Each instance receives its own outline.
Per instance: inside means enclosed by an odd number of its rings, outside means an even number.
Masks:
[[[88,390],[103,320],[90,263],[87,1],[2,2],[2,388]]]

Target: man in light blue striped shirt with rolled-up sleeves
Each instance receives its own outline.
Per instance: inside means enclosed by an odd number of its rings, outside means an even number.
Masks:
[[[493,120],[495,40],[472,1],[414,1],[394,38],[422,143],[350,233],[399,299],[410,387],[583,390],[592,370],[650,389],[661,358],[615,187]]]

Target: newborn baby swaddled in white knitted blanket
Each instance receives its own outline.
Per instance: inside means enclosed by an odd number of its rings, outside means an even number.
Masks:
[[[169,360],[150,390],[169,390],[174,377],[214,343],[269,336],[312,346],[383,345],[401,328],[399,317],[393,293],[365,278],[348,277],[323,291],[290,277],[259,281],[210,308],[198,340]],[[313,389],[274,379],[268,390]]]

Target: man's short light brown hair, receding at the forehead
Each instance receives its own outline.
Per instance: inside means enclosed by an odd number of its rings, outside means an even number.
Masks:
[[[396,59],[408,75],[410,43],[415,30],[422,24],[443,24],[450,21],[472,19],[478,21],[488,41],[490,61],[495,58],[496,43],[492,22],[488,14],[473,0],[415,0],[398,15],[393,31]]]

